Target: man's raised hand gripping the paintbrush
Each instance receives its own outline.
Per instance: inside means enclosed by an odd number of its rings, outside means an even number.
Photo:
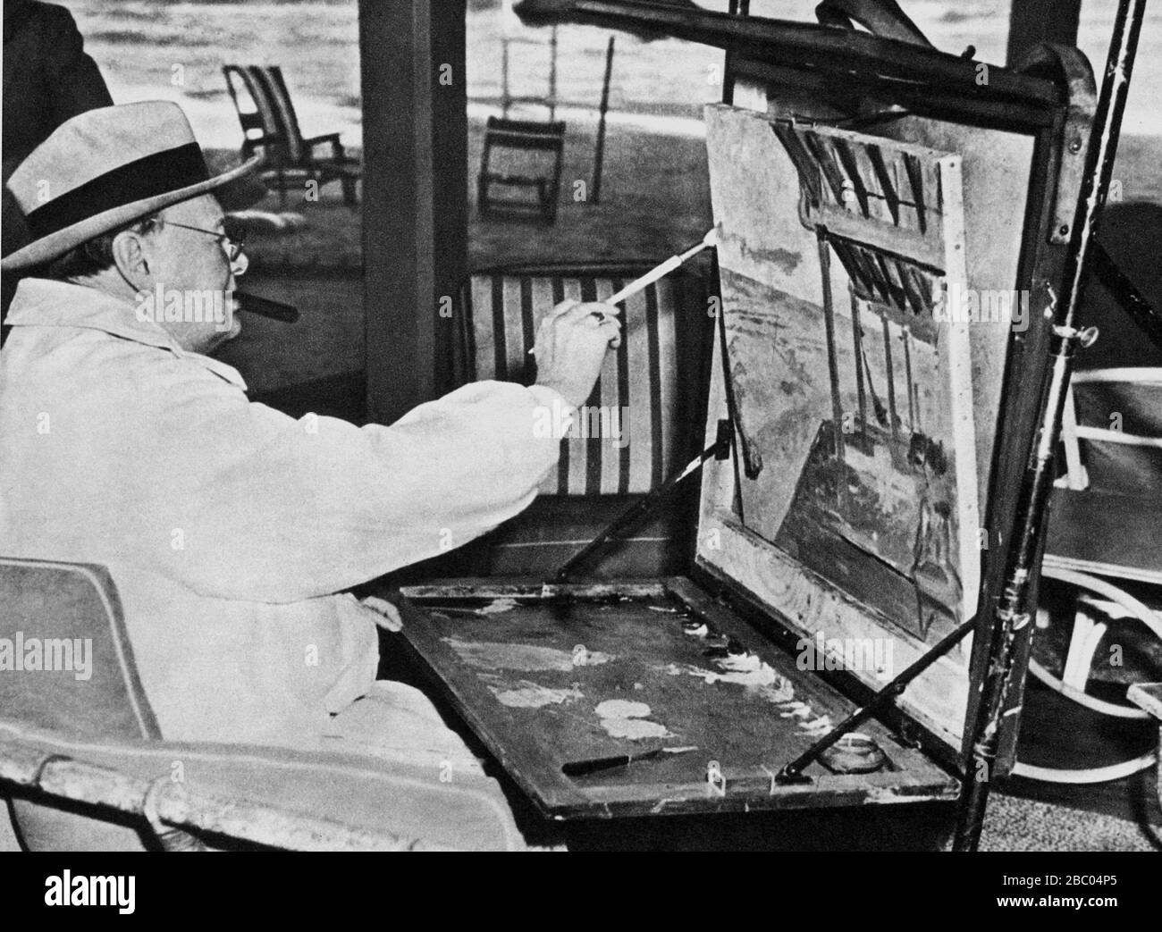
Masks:
[[[622,343],[622,324],[609,304],[562,301],[540,322],[533,352],[537,385],[554,388],[568,404],[584,404],[605,352]]]

